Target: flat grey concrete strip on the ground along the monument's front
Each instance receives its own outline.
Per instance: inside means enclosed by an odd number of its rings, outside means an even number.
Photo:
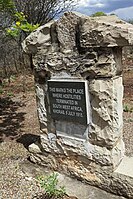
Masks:
[[[29,161],[24,161],[19,166],[22,172],[31,179],[36,178],[36,176],[49,176],[53,173],[48,168],[32,164]],[[68,177],[60,172],[56,173],[58,173],[58,186],[64,186],[69,196],[75,196],[78,199],[126,199],[125,197],[108,193],[75,178]]]

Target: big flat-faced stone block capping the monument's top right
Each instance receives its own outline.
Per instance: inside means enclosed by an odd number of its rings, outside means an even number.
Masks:
[[[133,25],[116,16],[81,19],[81,47],[114,47],[133,45]]]

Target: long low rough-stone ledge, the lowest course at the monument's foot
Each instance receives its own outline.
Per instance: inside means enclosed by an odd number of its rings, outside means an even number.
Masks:
[[[76,159],[75,156],[51,156],[49,153],[36,156],[31,154],[30,158],[35,163],[76,177],[105,191],[133,198],[133,178],[113,172],[110,167],[100,167],[94,162],[85,164],[83,159]]]

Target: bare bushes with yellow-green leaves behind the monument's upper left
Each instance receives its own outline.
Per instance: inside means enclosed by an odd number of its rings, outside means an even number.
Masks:
[[[16,60],[19,60],[20,67],[22,67],[24,64],[22,40],[38,25],[43,25],[62,12],[70,10],[74,3],[75,0],[0,0],[0,32],[3,35],[0,38],[0,46],[2,46],[1,53],[6,51],[7,55],[6,58],[5,53],[1,56],[2,63],[5,63],[1,65],[7,67],[13,63],[9,60],[14,59],[14,65],[16,65]],[[10,36],[8,38],[5,29]],[[9,45],[12,46],[9,55],[11,57],[8,56]],[[13,47],[17,51],[13,50]],[[14,54],[14,52],[17,53]]]

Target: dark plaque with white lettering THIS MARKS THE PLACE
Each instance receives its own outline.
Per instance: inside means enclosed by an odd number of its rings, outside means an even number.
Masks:
[[[53,119],[88,124],[87,81],[49,80],[48,94]]]

